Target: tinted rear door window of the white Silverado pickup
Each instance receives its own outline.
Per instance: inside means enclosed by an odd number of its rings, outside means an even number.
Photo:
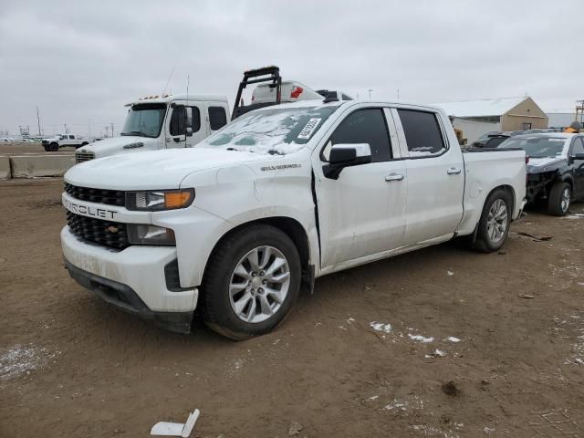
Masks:
[[[433,112],[398,110],[410,157],[424,157],[445,151],[440,125]]]

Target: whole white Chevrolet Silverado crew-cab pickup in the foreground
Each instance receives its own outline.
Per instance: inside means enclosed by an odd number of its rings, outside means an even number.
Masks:
[[[74,166],[68,272],[178,332],[281,322],[301,283],[456,236],[500,248],[526,196],[518,150],[462,152],[442,110],[328,97],[248,112],[189,150]]]

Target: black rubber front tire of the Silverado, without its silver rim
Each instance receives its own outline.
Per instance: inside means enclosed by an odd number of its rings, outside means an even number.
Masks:
[[[235,314],[232,308],[229,286],[235,267],[242,257],[263,245],[276,248],[286,257],[289,267],[287,296],[271,317],[261,322],[245,322]],[[294,242],[285,233],[271,225],[245,226],[227,235],[209,257],[202,285],[203,320],[209,328],[229,339],[244,340],[266,334],[287,317],[297,300],[300,283],[300,256]]]

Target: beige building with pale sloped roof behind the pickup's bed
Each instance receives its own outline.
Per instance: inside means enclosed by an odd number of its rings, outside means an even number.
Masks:
[[[530,97],[434,103],[454,117],[454,128],[472,142],[495,130],[547,128],[547,115]]]

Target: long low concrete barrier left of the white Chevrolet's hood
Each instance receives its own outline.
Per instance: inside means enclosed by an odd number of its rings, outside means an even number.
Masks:
[[[17,155],[10,157],[13,178],[61,176],[75,164],[73,155]]]

